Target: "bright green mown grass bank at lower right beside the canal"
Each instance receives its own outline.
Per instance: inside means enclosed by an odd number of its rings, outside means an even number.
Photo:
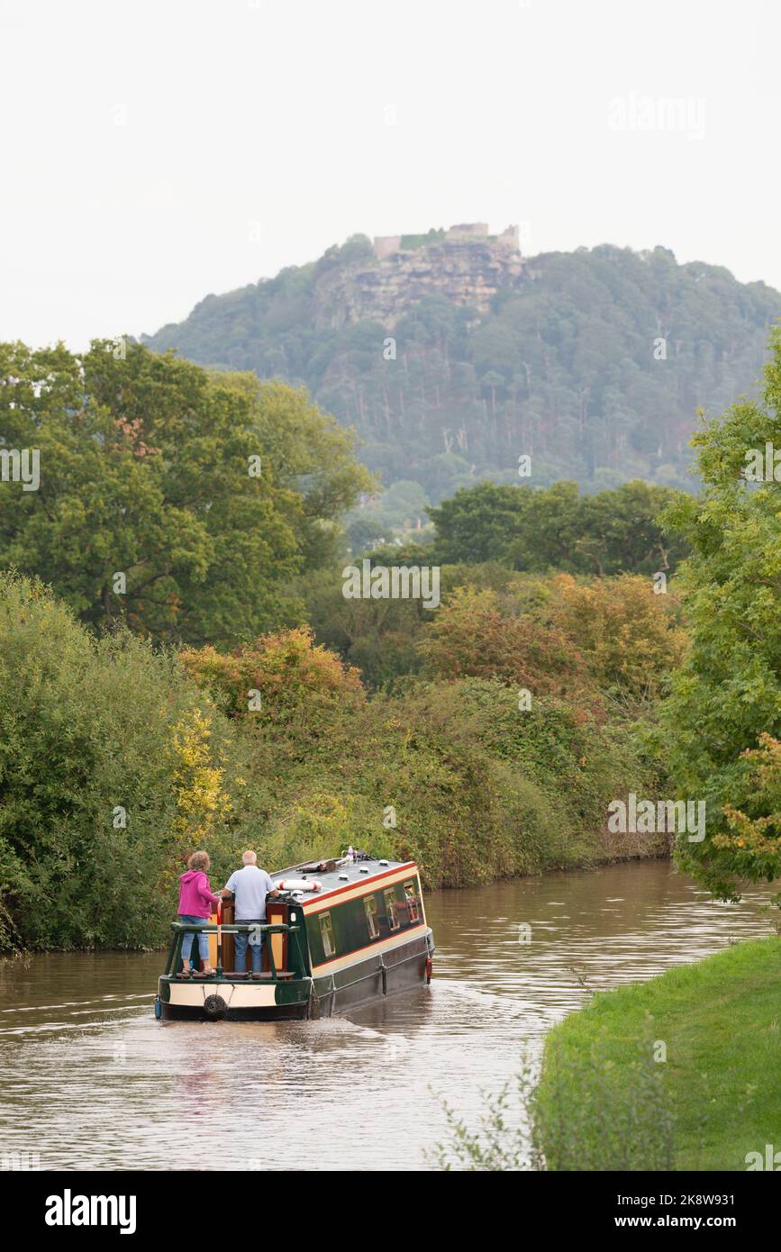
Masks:
[[[533,1104],[548,1169],[781,1169],[781,938],[595,995]]]

